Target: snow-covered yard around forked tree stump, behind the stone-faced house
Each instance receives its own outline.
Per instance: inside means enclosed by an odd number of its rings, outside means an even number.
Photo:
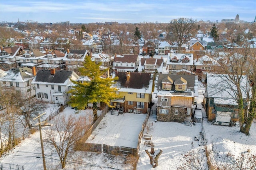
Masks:
[[[148,134],[152,135],[151,141],[154,149],[162,149],[163,152],[158,159],[158,170],[173,170],[181,165],[180,159],[182,154],[191,149],[191,143],[194,147],[198,147],[198,141],[194,141],[195,136],[199,136],[201,124],[196,123],[195,126],[186,126],[176,122],[154,122],[156,115],[150,115],[148,122],[153,122],[153,131]],[[151,150],[150,147],[144,145],[144,139],[140,145],[140,158],[138,161],[138,170],[150,170],[153,168],[150,159],[145,152]]]

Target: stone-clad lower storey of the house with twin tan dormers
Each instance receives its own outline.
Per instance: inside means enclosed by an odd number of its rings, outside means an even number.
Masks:
[[[175,122],[180,122],[180,123],[184,122],[184,119],[186,117],[186,108],[184,108],[184,107],[169,107],[168,108],[169,114],[159,113],[160,108],[161,107],[157,108],[157,116],[156,116],[157,121],[165,121],[165,122],[175,121]],[[176,110],[178,110],[178,114],[175,114]]]

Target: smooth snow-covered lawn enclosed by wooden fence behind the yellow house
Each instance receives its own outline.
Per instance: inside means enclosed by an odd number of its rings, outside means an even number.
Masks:
[[[146,114],[124,113],[116,116],[109,111],[86,142],[137,148],[145,118]]]

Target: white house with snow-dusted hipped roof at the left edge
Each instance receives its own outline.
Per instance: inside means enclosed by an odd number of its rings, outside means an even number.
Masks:
[[[15,90],[18,96],[25,99],[36,94],[35,87],[32,85],[34,75],[31,68],[12,68],[4,74],[4,76],[0,77],[2,91],[10,92]]]

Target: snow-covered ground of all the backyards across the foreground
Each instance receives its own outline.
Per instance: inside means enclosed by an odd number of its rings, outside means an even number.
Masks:
[[[204,86],[202,83],[199,83],[198,108],[202,108],[202,92],[204,92]],[[153,97],[153,100],[156,99]],[[214,149],[220,156],[228,152],[238,155],[239,153],[246,152],[248,149],[250,149],[250,153],[256,154],[256,120],[252,123],[250,135],[246,136],[239,132],[238,126],[226,127],[212,125],[207,121],[204,109],[202,111],[204,116],[203,125],[209,148],[214,143]],[[67,107],[60,114],[74,114],[78,116],[83,114],[92,117],[92,110],[76,111]],[[112,146],[124,144],[134,147],[145,117],[145,115],[131,113],[124,113],[119,116],[107,113],[94,131],[94,139],[89,138],[88,141],[95,143],[101,142]],[[148,134],[152,135],[151,141],[154,144],[154,149],[163,150],[158,160],[159,166],[152,168],[152,165],[150,165],[150,159],[145,152],[145,149],[150,150],[150,147],[144,145],[145,140],[142,138],[137,170],[176,169],[182,165],[181,160],[184,160],[182,154],[191,149],[192,142],[194,143],[194,148],[202,147],[198,145],[198,141],[194,141],[194,137],[198,136],[201,131],[201,125],[199,123],[196,123],[195,126],[185,126],[182,123],[176,122],[154,122],[155,119],[156,115],[150,115],[149,122],[153,122],[154,129],[149,131]],[[43,131],[45,128],[47,127],[44,127]],[[60,166],[58,166],[58,157],[56,155],[51,156],[48,150],[45,150],[45,152],[48,167],[60,169]],[[36,158],[35,156],[41,156],[39,132],[30,135],[29,138],[22,141],[14,150],[2,156],[0,162],[24,165],[25,170],[42,170],[42,158]],[[67,170],[105,170],[108,168],[128,170],[131,168],[130,165],[124,164],[124,156],[112,156],[104,153],[76,151],[68,161],[65,168]],[[74,162],[78,162],[79,164]]]

